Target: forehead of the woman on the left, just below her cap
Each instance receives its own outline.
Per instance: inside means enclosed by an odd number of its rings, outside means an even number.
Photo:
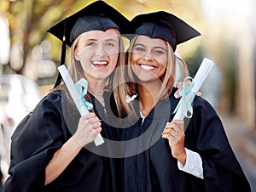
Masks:
[[[119,32],[116,29],[108,29],[106,31],[87,31],[80,35],[80,39],[86,40],[119,40]]]

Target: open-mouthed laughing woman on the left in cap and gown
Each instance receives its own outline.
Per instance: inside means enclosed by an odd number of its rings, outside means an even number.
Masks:
[[[113,71],[125,62],[119,31],[127,23],[116,9],[96,1],[49,29],[63,43],[62,65],[66,44],[71,47],[68,72],[73,82],[88,81],[86,98],[81,97],[94,107],[81,117],[64,82],[57,81],[15,129],[4,191],[119,191],[116,165],[102,155],[108,153],[108,144],[96,146],[92,141],[100,132],[113,138],[105,104],[115,104],[108,99]],[[82,89],[87,91],[85,86]]]

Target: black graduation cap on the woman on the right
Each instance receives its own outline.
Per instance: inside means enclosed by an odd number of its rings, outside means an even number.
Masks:
[[[130,39],[134,35],[163,39],[170,43],[173,51],[177,44],[201,35],[183,20],[165,11],[137,15],[127,25],[125,33],[130,34],[126,36]]]

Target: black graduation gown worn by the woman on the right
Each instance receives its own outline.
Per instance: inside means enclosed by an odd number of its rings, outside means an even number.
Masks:
[[[175,91],[172,91],[169,101],[160,101],[155,105],[143,125],[141,120],[137,121],[123,132],[122,139],[129,140],[150,129],[147,137],[137,140],[138,154],[124,159],[124,191],[251,191],[222,122],[212,106],[202,98],[195,98],[193,116],[185,121],[188,126],[185,147],[201,155],[204,179],[178,169],[168,140],[161,138],[166,122],[174,116],[172,111],[178,102],[173,96]],[[170,105],[171,110],[168,109]],[[142,149],[146,150],[141,152]],[[126,146],[125,151],[129,150],[132,150],[131,147]]]

